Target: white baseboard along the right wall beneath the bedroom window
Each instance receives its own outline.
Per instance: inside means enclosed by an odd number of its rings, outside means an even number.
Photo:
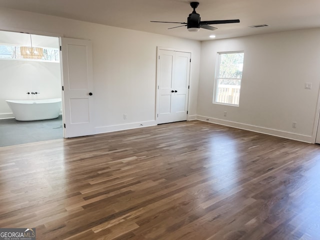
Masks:
[[[222,120],[222,119],[217,119],[217,118],[207,117],[207,116],[201,116],[201,115],[197,115],[196,119],[201,120],[201,121],[215,123],[215,124],[231,126],[231,127],[235,127],[235,128],[239,128],[239,129],[264,133],[264,134],[268,134],[268,135],[272,135],[272,136],[279,136],[279,137],[284,137],[284,138],[288,138],[288,139],[292,139],[292,140],[314,143],[314,141],[312,140],[312,136],[308,136],[308,135],[297,134],[297,133],[293,133],[293,132],[271,129],[271,128],[266,128],[266,127],[261,127],[261,126],[255,126],[255,125],[250,125],[250,124],[245,124],[245,123],[240,123],[240,122],[235,122],[235,121],[227,121],[227,120]]]

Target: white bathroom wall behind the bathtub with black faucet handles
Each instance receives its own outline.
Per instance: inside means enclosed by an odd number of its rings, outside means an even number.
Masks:
[[[5,100],[61,97],[60,63],[0,59],[0,86],[0,118],[13,117]]]

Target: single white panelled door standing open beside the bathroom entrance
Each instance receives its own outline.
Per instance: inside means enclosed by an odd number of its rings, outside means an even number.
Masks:
[[[92,44],[61,38],[64,137],[93,134]]]

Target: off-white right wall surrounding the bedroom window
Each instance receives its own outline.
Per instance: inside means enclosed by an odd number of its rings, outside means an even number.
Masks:
[[[314,142],[319,39],[320,29],[308,29],[203,41],[197,118]],[[217,52],[236,50],[244,51],[239,106],[213,104]],[[305,82],[312,88],[304,89]]]

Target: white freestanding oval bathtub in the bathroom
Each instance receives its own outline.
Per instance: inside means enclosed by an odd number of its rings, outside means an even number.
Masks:
[[[18,121],[35,121],[57,118],[61,98],[43,100],[5,100]]]

